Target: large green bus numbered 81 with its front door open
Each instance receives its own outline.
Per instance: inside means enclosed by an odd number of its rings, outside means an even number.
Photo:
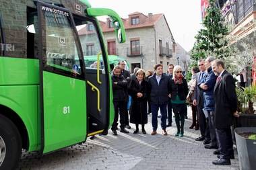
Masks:
[[[22,148],[44,155],[113,123],[108,54],[96,19],[103,15],[125,42],[119,15],[86,0],[0,0],[1,170],[17,167]],[[92,51],[96,69],[84,59]]]

